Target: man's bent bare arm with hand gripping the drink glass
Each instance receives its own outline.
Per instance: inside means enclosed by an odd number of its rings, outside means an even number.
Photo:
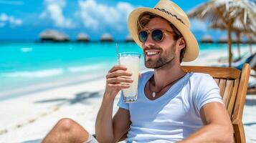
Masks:
[[[126,76],[126,77],[121,77]],[[130,125],[130,115],[126,109],[118,109],[113,117],[113,102],[120,89],[130,87],[133,82],[124,66],[114,66],[106,76],[103,102],[97,115],[95,133],[98,142],[117,142]],[[122,84],[121,84],[122,82]],[[113,117],[113,119],[112,119]]]

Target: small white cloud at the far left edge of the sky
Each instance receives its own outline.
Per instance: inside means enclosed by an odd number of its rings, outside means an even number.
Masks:
[[[10,26],[21,26],[22,23],[22,19],[17,19],[14,16],[8,16],[5,13],[0,14],[0,27],[6,26],[7,24],[10,24]]]

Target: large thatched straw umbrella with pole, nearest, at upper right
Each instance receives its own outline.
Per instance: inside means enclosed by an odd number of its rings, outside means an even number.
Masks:
[[[205,19],[209,23],[221,20],[227,30],[229,45],[229,66],[232,63],[232,24],[240,19],[247,25],[247,19],[255,19],[255,3],[247,0],[211,0],[196,6],[189,12],[189,17]],[[255,22],[254,22],[255,23]]]

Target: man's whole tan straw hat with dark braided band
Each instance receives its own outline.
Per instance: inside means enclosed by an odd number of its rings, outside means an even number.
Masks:
[[[156,6],[151,8],[138,8],[131,12],[128,17],[128,27],[134,41],[141,46],[141,41],[138,39],[137,21],[138,17],[143,12],[151,12],[158,16],[163,17],[167,21],[170,21],[184,36],[186,41],[186,51],[182,61],[193,61],[199,55],[199,45],[194,37],[194,34],[189,29],[189,18],[186,13],[174,2],[169,0],[160,0]]]

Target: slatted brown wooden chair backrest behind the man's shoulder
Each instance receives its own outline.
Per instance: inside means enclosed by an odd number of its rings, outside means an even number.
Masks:
[[[245,142],[245,131],[242,124],[245,95],[247,92],[250,66],[244,64],[242,71],[229,67],[213,66],[182,66],[185,71],[210,74],[219,85],[232,125],[234,128],[234,142]]]

